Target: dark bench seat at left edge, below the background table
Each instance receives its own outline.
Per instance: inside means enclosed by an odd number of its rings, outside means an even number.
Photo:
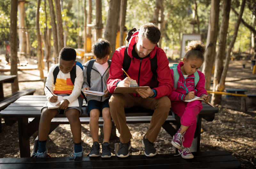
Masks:
[[[29,88],[29,89],[19,90],[17,92],[12,93],[9,96],[4,97],[4,99],[0,102],[0,111],[4,110],[4,108],[9,106],[11,103],[15,102],[21,96],[33,95],[35,91],[36,89]],[[1,116],[0,116],[0,119],[1,119]],[[12,126],[16,121],[12,121],[12,123],[9,123],[8,126]],[[0,133],[1,132],[2,132],[2,124],[0,124]]]

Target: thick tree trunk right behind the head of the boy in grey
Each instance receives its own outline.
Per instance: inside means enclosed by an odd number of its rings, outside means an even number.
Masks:
[[[120,0],[110,0],[108,3],[108,18],[106,21],[104,37],[111,44],[112,53],[109,56],[109,60],[111,60],[113,53],[116,50],[116,31],[119,20],[120,4]]]

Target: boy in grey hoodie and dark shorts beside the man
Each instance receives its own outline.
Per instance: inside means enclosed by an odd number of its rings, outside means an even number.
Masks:
[[[109,55],[111,54],[111,46],[107,40],[98,39],[92,45],[92,53],[95,57],[94,63],[91,70],[90,84],[87,81],[87,66],[90,61],[87,61],[84,66],[84,83],[83,83],[83,92],[85,90],[93,90],[104,92],[103,96],[95,96],[85,94],[88,101],[87,113],[90,116],[90,131],[92,135],[93,145],[90,152],[90,157],[100,156],[100,144],[98,139],[99,133],[99,117],[102,115],[104,120],[103,131],[104,138],[102,144],[102,153],[101,157],[111,157],[111,151],[109,147],[109,138],[112,129],[112,120],[109,110],[108,100],[110,98],[110,93],[107,89],[107,80],[109,77],[109,67],[110,61],[108,60]]]

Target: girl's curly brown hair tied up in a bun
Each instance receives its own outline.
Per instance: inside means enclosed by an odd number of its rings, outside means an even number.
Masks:
[[[190,56],[196,56],[200,58],[204,62],[204,53],[205,47],[204,43],[201,41],[191,41],[186,47],[187,53],[185,54],[185,58],[189,58]]]

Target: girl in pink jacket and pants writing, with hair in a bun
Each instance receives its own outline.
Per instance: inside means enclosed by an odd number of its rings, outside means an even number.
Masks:
[[[172,111],[180,116],[181,127],[173,136],[172,145],[179,149],[182,158],[193,158],[189,147],[192,144],[196,131],[196,116],[202,110],[202,101],[194,100],[184,102],[184,100],[193,99],[195,96],[202,97],[205,103],[209,102],[210,96],[204,88],[204,73],[198,71],[204,62],[205,47],[201,41],[192,41],[187,46],[187,53],[183,61],[177,66],[179,80],[177,88],[173,87],[169,98],[172,101]],[[173,70],[172,78],[173,78]],[[195,75],[197,71],[199,81],[195,86]],[[174,83],[174,80],[173,80]],[[173,85],[174,86],[174,85]]]

